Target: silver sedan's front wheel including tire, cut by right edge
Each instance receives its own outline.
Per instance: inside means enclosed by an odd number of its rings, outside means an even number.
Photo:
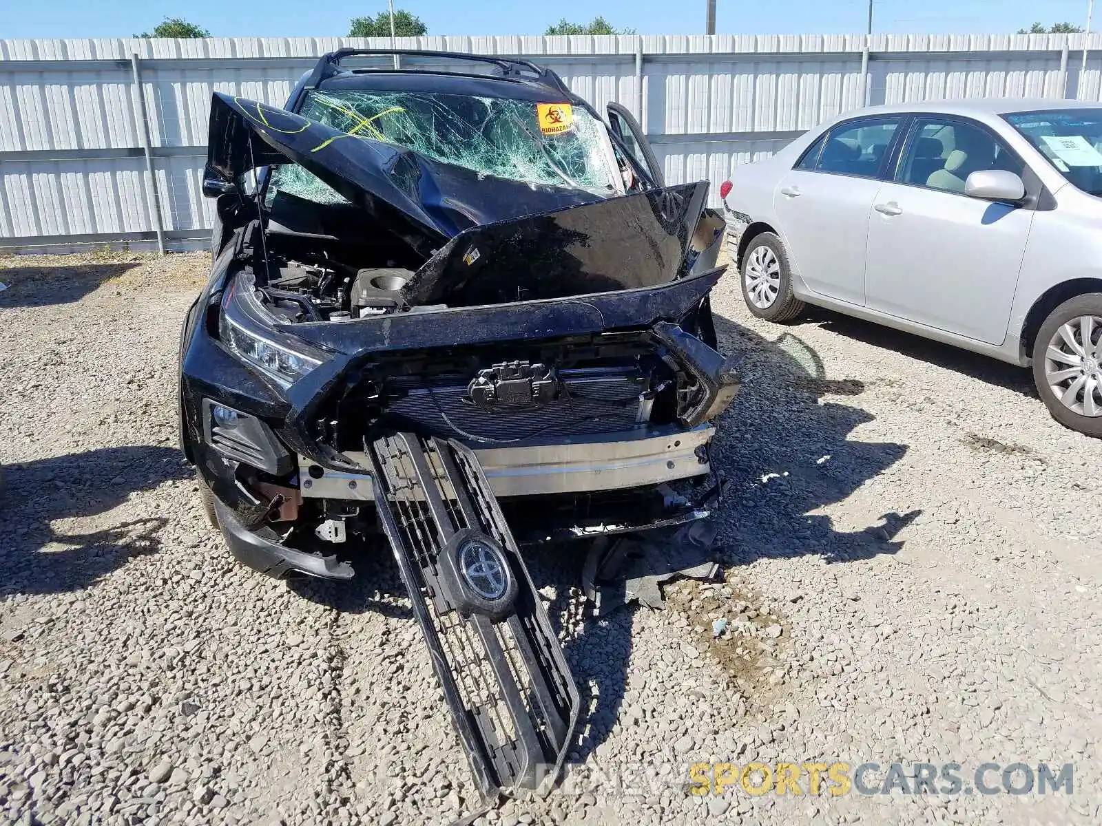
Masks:
[[[1102,438],[1102,293],[1054,309],[1037,332],[1034,383],[1052,419]]]

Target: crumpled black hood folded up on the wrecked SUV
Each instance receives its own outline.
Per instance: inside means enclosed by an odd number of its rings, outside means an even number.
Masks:
[[[693,254],[712,243],[690,254],[693,233],[703,226],[706,181],[603,198],[488,176],[284,109],[214,95],[207,176],[236,181],[288,161],[426,259],[403,289],[412,305],[474,306],[656,286],[684,275]]]

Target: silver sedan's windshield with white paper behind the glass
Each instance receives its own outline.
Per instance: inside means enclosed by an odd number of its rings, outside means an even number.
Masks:
[[[1102,195],[1102,109],[1054,109],[1004,116],[1083,192]]]

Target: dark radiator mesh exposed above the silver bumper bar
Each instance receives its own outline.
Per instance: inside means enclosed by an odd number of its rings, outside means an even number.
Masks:
[[[425,384],[401,378],[388,384],[400,398],[390,416],[418,431],[462,442],[509,442],[557,436],[583,436],[629,431],[649,419],[642,398],[648,378],[635,367],[585,368],[559,373],[558,398],[547,404],[487,411],[467,398],[467,382],[441,380]]]

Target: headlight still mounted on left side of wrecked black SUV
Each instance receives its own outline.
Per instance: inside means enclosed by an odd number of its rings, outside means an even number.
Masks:
[[[240,274],[229,285],[218,317],[218,336],[238,358],[290,387],[327,354],[264,324],[268,315],[252,295],[252,276]]]

